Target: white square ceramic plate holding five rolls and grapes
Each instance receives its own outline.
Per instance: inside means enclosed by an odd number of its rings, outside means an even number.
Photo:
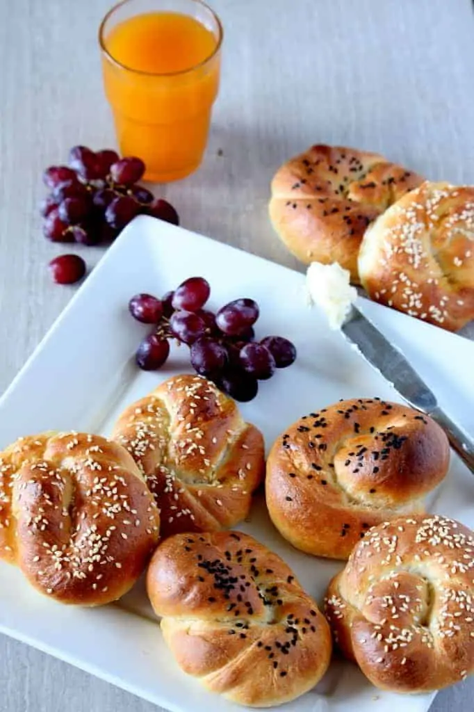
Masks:
[[[267,449],[300,415],[340,398],[378,395],[399,400],[342,336],[307,307],[300,273],[139,217],[110,248],[0,399],[0,448],[20,435],[48,429],[107,434],[126,404],[163,379],[190,371],[186,347],[174,348],[159,372],[135,367],[132,356],[144,327],[130,318],[127,303],[137,292],[160,295],[194,275],[211,283],[211,308],[238,297],[255,298],[261,312],[258,336],[284,335],[297,346],[295,365],[278,371],[261,385],[256,400],[241,407],[263,431]],[[474,343],[359,301],[362,311],[404,350],[446,411],[473,432]],[[474,479],[455,456],[431,507],[474,525]],[[342,563],[291,548],[273,529],[261,501],[241,528],[280,554],[321,602],[327,582]],[[65,607],[37,594],[19,570],[1,563],[0,630],[172,711],[240,709],[206,693],[174,664],[142,582],[118,604]],[[283,709],[393,712],[402,703],[406,712],[426,712],[432,699],[382,693],[355,666],[335,661],[317,689]]]

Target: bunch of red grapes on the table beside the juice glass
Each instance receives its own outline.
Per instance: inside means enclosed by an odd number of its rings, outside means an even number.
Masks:
[[[43,182],[51,189],[40,206],[43,234],[49,240],[98,245],[115,239],[138,214],[179,224],[172,205],[137,184],[145,170],[142,159],[120,158],[110,149],[93,152],[74,146],[68,164],[51,166],[43,173]],[[72,262],[64,263],[72,274]]]

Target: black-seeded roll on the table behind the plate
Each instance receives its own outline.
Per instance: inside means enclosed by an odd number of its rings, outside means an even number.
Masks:
[[[270,220],[302,262],[338,262],[359,283],[357,253],[367,225],[422,180],[377,153],[312,146],[273,177]]]

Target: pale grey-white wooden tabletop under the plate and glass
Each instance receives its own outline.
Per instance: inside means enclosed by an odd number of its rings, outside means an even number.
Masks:
[[[206,160],[193,177],[157,190],[184,226],[296,267],[268,224],[268,182],[313,142],[474,182],[470,0],[213,4],[226,37]],[[71,145],[114,143],[96,45],[109,5],[0,2],[0,390],[74,293],[48,281],[46,263],[63,247],[43,239],[36,204],[42,169],[63,162]],[[90,264],[102,253],[82,252]],[[1,712],[156,709],[4,637],[0,659]],[[473,696],[474,680],[459,684],[438,695],[433,712],[471,710]]]

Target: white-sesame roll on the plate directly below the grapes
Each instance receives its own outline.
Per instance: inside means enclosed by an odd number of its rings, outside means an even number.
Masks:
[[[144,474],[162,537],[235,525],[248,515],[263,480],[262,434],[201,376],[162,383],[123,412],[112,437]]]

